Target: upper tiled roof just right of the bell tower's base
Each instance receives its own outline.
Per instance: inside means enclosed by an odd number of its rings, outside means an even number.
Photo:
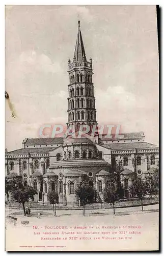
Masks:
[[[105,138],[105,134],[102,135],[102,138],[99,138],[101,141],[109,141],[109,140],[130,140],[130,139],[143,139],[145,137],[143,132],[138,133],[121,133],[119,134],[122,138],[115,137],[115,134],[112,134],[112,138]]]

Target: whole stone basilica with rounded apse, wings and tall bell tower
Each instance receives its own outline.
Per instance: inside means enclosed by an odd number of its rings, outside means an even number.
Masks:
[[[87,59],[78,21],[74,57],[68,59],[68,122],[78,131],[80,125],[97,125],[92,59]],[[91,136],[54,138],[25,138],[22,148],[5,153],[5,172],[8,180],[21,178],[24,186],[33,186],[35,200],[48,203],[47,193],[56,190],[61,205],[76,205],[77,184],[87,177],[103,202],[102,191],[111,174],[119,172],[130,197],[133,176],[140,179],[153,173],[158,166],[158,146],[145,142],[143,132],[125,133],[107,138],[97,133]]]

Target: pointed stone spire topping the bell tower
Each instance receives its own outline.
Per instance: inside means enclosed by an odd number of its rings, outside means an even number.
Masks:
[[[76,40],[73,60],[74,61],[86,60],[86,53],[84,49],[83,38],[80,30],[80,20],[78,20],[78,33],[77,33],[77,40]]]

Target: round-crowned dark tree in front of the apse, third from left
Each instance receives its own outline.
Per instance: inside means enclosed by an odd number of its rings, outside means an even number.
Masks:
[[[80,204],[83,204],[83,215],[85,215],[85,205],[87,203],[94,203],[97,200],[97,190],[85,181],[77,185],[75,195],[80,200]]]

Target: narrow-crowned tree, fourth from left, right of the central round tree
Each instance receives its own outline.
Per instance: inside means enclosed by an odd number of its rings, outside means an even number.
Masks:
[[[114,182],[110,182],[105,186],[103,189],[103,200],[106,203],[113,204],[113,211],[115,214],[115,202],[118,201],[119,198],[119,193],[118,193],[118,186]]]

